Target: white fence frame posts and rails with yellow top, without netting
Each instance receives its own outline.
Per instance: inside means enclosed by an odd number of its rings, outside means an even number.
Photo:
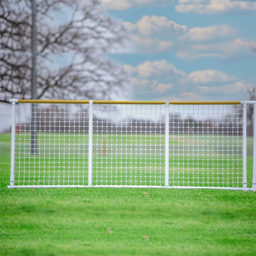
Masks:
[[[11,131],[11,175],[10,175],[10,185],[8,186],[8,188],[30,188],[30,187],[105,187],[105,186],[109,186],[109,187],[163,187],[163,188],[210,188],[210,189],[231,189],[231,190],[253,190],[256,191],[256,101],[197,101],[197,102],[193,102],[193,101],[169,101],[169,102],[164,102],[164,101],[97,101],[97,100],[18,100],[18,99],[10,99],[10,102],[12,103],[12,131]],[[89,127],[88,127],[88,177],[87,177],[87,184],[50,184],[50,185],[38,185],[38,184],[32,184],[32,185],[16,185],[15,184],[15,175],[16,175],[16,170],[15,170],[15,135],[16,135],[16,116],[15,116],[15,112],[16,112],[16,104],[17,103],[32,103],[32,104],[40,104],[40,103],[54,103],[54,104],[58,104],[58,103],[64,103],[64,104],[88,104],[89,108],[89,113],[88,113],[88,118],[89,118]],[[96,104],[142,104],[142,105],[147,105],[147,104],[159,104],[165,107],[165,116],[164,116],[164,164],[162,163],[162,165],[158,165],[160,166],[160,168],[163,168],[164,166],[164,181],[161,180],[161,178],[163,177],[157,177],[159,178],[159,184],[157,184],[157,182],[155,182],[155,184],[151,184],[150,185],[141,185],[141,183],[139,183],[139,185],[137,185],[136,181],[135,181],[135,185],[134,183],[129,183],[129,185],[122,185],[119,183],[116,184],[111,184],[109,185],[108,182],[106,181],[105,184],[97,184],[97,182],[95,183],[95,181],[93,181],[94,179],[94,172],[93,172],[93,136],[94,136],[94,127],[93,127],[93,123],[94,123],[94,105]],[[242,110],[243,110],[243,132],[242,132],[242,148],[243,148],[243,152],[242,152],[242,162],[243,162],[243,167],[242,167],[242,185],[240,184],[239,186],[219,186],[219,184],[217,186],[212,185],[212,186],[201,186],[201,185],[196,185],[196,186],[191,186],[189,185],[190,183],[187,182],[186,185],[175,185],[175,183],[173,183],[172,185],[170,185],[170,127],[169,127],[169,113],[170,113],[170,105],[192,105],[192,104],[197,104],[197,105],[207,105],[207,104],[211,104],[211,105],[215,105],[215,104],[224,104],[224,105],[228,105],[228,104],[239,104],[242,106]],[[248,187],[247,186],[247,166],[246,166],[246,157],[247,157],[247,152],[246,152],[246,126],[247,126],[247,120],[246,120],[246,112],[247,112],[247,105],[248,104],[253,104],[253,110],[254,110],[254,118],[253,118],[253,123],[254,123],[254,129],[253,129],[253,169],[252,169],[252,186]],[[126,135],[127,135],[127,130],[126,130]],[[194,135],[193,135],[194,136]],[[188,147],[189,148],[189,147]],[[145,151],[146,152],[146,151]],[[160,151],[159,151],[160,152]],[[146,153],[145,153],[146,154]],[[212,164],[213,165],[213,164]],[[219,167],[218,167],[219,168]],[[117,171],[115,173],[115,175],[117,175]],[[127,174],[126,174],[127,175]],[[189,174],[186,174],[187,178],[189,177]],[[193,174],[194,175],[194,174]],[[160,175],[161,176],[161,175]],[[212,175],[213,177],[213,175]],[[155,177],[156,178],[156,177]],[[179,177],[178,177],[179,178]],[[131,178],[132,180],[132,178]],[[199,178],[198,178],[199,180]],[[214,183],[214,181],[212,181],[212,184]],[[145,183],[146,184],[146,183]]]

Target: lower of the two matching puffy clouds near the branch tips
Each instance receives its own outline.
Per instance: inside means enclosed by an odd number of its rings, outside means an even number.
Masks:
[[[183,77],[185,73],[177,69],[173,64],[168,63],[166,60],[145,61],[137,67],[124,66],[130,74],[138,75],[142,78],[149,78],[155,76],[176,76]]]

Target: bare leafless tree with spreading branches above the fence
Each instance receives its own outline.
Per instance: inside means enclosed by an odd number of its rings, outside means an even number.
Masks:
[[[127,44],[127,32],[101,1],[40,0],[36,10],[38,98],[111,99],[128,90],[125,71],[105,57]],[[31,12],[31,0],[0,2],[0,102],[31,97]]]

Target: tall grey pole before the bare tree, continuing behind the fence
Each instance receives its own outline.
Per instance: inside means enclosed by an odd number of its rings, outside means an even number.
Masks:
[[[31,99],[37,99],[36,95],[36,0],[31,0],[32,7],[32,33],[31,33],[31,50],[32,50],[32,71],[31,71]],[[36,150],[36,104],[31,104],[31,154],[35,155]]]

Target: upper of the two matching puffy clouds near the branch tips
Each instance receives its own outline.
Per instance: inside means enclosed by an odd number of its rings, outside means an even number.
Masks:
[[[184,33],[187,26],[180,25],[164,16],[143,16],[136,24],[124,22],[124,26],[131,31],[139,32],[142,35],[152,35],[153,33]]]

